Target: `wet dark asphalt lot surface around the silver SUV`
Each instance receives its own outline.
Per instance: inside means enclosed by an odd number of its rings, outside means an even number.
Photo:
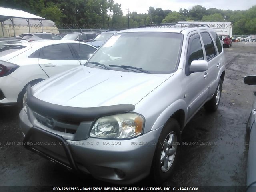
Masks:
[[[236,42],[224,51],[226,74],[218,111],[202,108],[187,124],[178,167],[162,186],[246,186],[245,128],[256,86],[245,85],[243,77],[256,74],[256,43]],[[16,107],[0,108],[0,186],[110,186],[26,150],[18,114]],[[150,185],[149,178],[134,184]]]

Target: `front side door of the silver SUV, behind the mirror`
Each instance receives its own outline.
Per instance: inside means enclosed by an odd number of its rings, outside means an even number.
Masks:
[[[192,34],[188,40],[188,50],[186,54],[186,93],[184,97],[188,103],[188,118],[190,118],[200,106],[205,102],[208,96],[208,70],[206,72],[197,72],[189,74],[191,62],[194,60],[204,60],[204,46],[198,33]]]

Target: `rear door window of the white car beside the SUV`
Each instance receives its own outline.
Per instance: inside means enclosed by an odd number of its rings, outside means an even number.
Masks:
[[[51,60],[74,59],[68,44],[57,44],[41,48],[39,58]]]

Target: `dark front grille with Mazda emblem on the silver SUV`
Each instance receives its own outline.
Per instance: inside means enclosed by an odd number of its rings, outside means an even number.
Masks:
[[[37,112],[34,112],[33,114],[40,124],[52,130],[60,131],[63,133],[75,134],[80,124],[80,122],[70,122],[66,120],[51,118],[46,115],[39,114]]]

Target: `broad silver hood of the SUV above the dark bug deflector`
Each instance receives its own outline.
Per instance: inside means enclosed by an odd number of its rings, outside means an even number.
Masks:
[[[137,104],[173,74],[144,74],[79,66],[32,87],[43,101],[73,107]]]

